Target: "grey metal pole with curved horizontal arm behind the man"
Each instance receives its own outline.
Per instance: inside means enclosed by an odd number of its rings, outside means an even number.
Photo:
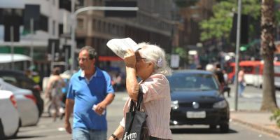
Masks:
[[[74,0],[72,0],[72,27],[71,27],[71,72],[73,73],[74,69],[76,68],[75,64],[75,50],[76,50],[76,41],[75,41],[75,31],[76,31],[76,18],[79,13],[82,13],[86,10],[139,10],[138,7],[106,7],[106,6],[89,6],[89,7],[84,7],[80,8],[78,10],[74,10]]]

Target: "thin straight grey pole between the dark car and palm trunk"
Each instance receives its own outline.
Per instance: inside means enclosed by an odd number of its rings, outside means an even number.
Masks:
[[[240,23],[241,23],[241,0],[238,0],[238,13],[237,13],[237,41],[235,52],[235,111],[238,111],[238,72],[239,72],[239,48],[240,48]]]

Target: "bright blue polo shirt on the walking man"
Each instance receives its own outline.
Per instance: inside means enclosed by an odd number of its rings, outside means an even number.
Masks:
[[[68,99],[75,101],[73,107],[73,128],[87,130],[107,130],[106,113],[99,116],[92,110],[94,104],[102,102],[107,94],[113,93],[111,78],[106,71],[96,68],[96,72],[87,80],[80,70],[73,74],[69,83]]]

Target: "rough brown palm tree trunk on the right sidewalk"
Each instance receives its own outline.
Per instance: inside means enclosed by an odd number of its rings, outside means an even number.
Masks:
[[[274,111],[278,109],[276,104],[275,86],[274,86],[274,31],[275,15],[274,0],[262,0],[261,5],[261,46],[260,55],[264,59],[262,84],[262,111]]]

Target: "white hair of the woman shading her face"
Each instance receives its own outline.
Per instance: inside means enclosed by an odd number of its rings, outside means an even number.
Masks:
[[[165,50],[158,45],[151,45],[149,43],[139,43],[139,53],[141,57],[145,58],[145,62],[153,62],[155,64],[153,73],[161,73],[165,76],[169,76],[172,70],[167,64],[165,57]]]

